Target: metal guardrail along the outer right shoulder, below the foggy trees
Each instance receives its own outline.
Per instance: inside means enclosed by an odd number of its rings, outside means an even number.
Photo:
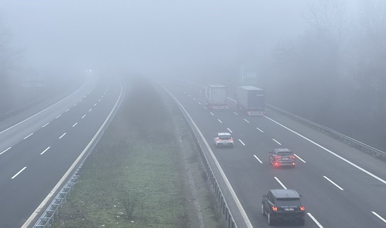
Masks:
[[[318,131],[321,131],[321,132],[323,132],[323,133],[325,133],[325,134],[327,134],[327,135],[329,135],[329,136],[331,136],[331,137],[333,137],[335,139],[338,139],[338,140],[340,140],[340,141],[342,141],[342,142],[344,142],[344,143],[346,143],[346,144],[348,144],[348,145],[350,145],[352,147],[360,149],[360,150],[362,150],[362,151],[364,151],[364,152],[366,152],[368,154],[371,154],[371,155],[373,155],[375,157],[378,157],[378,158],[380,158],[382,160],[386,160],[386,153],[381,151],[381,150],[379,150],[379,149],[371,147],[371,146],[369,146],[369,145],[367,145],[367,144],[365,144],[363,142],[360,142],[360,141],[358,141],[356,139],[350,138],[350,137],[348,137],[346,135],[343,135],[343,134],[341,134],[339,132],[336,132],[336,131],[334,131],[334,130],[332,130],[330,128],[327,128],[325,126],[321,126],[319,124],[316,124],[316,123],[313,123],[313,122],[311,122],[309,120],[306,120],[306,119],[304,119],[302,117],[296,116],[295,114],[293,114],[291,112],[285,111],[285,110],[283,110],[281,108],[278,108],[276,106],[273,106],[271,104],[268,104],[268,103],[265,103],[265,104],[266,104],[266,106],[272,108],[273,110],[278,111],[280,113],[283,113],[284,115],[286,115],[286,116],[288,116],[288,117],[290,117],[290,118],[292,118],[292,119],[294,119],[294,120],[296,120],[298,122],[301,122],[304,125],[307,125],[307,126],[313,128],[313,129],[316,129]]]

